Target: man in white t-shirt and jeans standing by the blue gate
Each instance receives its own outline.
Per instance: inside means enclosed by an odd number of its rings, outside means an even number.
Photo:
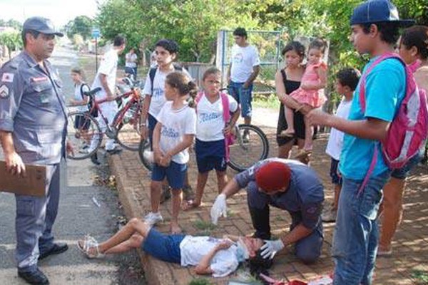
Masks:
[[[228,69],[229,93],[240,103],[245,124],[250,124],[251,93],[253,81],[260,72],[260,58],[257,48],[248,43],[245,28],[236,28],[233,38],[236,45],[232,48]],[[244,133],[244,140],[248,140],[248,133]]]

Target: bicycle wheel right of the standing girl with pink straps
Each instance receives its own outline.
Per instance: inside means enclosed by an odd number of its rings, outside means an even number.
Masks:
[[[228,165],[238,172],[264,160],[269,153],[269,142],[263,130],[255,125],[238,125],[236,140],[229,148]]]

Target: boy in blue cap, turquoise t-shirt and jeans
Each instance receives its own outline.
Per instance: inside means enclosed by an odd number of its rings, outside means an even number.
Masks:
[[[367,53],[371,58],[363,74],[380,56],[394,52],[399,27],[411,22],[399,20],[397,8],[388,0],[365,1],[354,9],[351,41],[358,53]],[[372,284],[378,240],[377,211],[382,187],[390,175],[380,140],[386,137],[389,123],[406,93],[404,65],[395,58],[377,63],[364,76],[365,108],[360,105],[360,81],[348,119],[318,110],[308,115],[312,124],[328,125],[345,133],[339,166],[343,184],[332,244],[335,285]],[[372,159],[376,151],[377,160]],[[366,181],[369,169],[372,173]]]

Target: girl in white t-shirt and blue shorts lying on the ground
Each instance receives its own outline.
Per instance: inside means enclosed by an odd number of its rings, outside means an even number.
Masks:
[[[138,218],[131,219],[113,237],[100,244],[88,235],[77,242],[78,248],[89,259],[140,248],[162,261],[195,266],[196,274],[210,274],[213,277],[228,276],[244,261],[248,261],[250,269],[256,274],[267,271],[273,260],[262,257],[260,248],[263,244],[262,239],[253,237],[224,236],[218,239],[163,234]]]

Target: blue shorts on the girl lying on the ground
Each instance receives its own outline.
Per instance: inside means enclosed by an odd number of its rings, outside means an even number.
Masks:
[[[184,237],[185,234],[163,234],[152,227],[141,249],[162,261],[181,264],[180,243]]]

